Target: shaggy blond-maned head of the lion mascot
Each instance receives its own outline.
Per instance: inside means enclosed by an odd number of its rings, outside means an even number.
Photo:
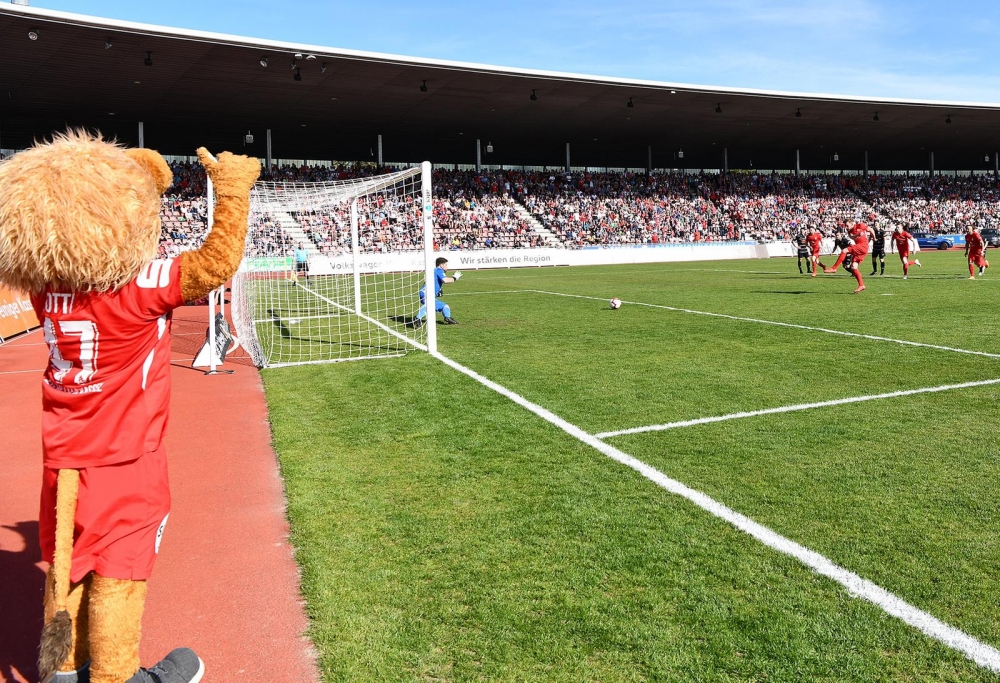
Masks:
[[[121,287],[156,254],[172,181],[156,152],[83,131],[14,155],[0,164],[0,282],[30,293]]]

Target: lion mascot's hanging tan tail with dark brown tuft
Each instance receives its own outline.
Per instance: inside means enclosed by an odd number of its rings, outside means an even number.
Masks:
[[[38,675],[43,683],[52,679],[69,657],[73,646],[73,620],[66,608],[69,598],[70,566],[73,562],[73,526],[76,498],[80,489],[79,470],[59,470],[56,485],[56,551],[52,562],[52,592],[55,617],[42,629],[38,650]]]

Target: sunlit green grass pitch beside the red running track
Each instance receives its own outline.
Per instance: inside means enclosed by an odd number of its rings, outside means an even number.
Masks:
[[[1000,353],[1000,273],[920,256],[907,281],[866,260],[857,296],[793,259],[468,271],[439,350],[592,434],[1000,378],[1000,358],[634,303]],[[264,382],[327,681],[1000,680],[427,354]],[[998,402],[607,441],[996,648]]]

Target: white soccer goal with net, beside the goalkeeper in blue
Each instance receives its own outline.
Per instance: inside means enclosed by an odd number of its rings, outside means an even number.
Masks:
[[[232,314],[258,367],[436,350],[431,165],[318,183],[259,182]]]

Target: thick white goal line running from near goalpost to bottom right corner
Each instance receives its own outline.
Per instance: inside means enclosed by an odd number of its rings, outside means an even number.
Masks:
[[[926,636],[929,636],[944,645],[961,652],[981,667],[1000,673],[1000,651],[976,640],[967,633],[960,631],[954,626],[950,626],[937,617],[914,607],[899,596],[890,593],[881,586],[863,579],[857,574],[850,572],[839,565],[834,564],[819,553],[809,550],[795,541],[785,538],[780,534],[759,524],[746,515],[742,515],[732,510],[722,503],[706,496],[700,491],[685,486],[679,481],[671,479],[654,467],[633,458],[617,448],[601,441],[595,436],[588,434],[576,425],[570,424],[555,413],[532,403],[528,399],[515,394],[513,391],[493,382],[474,370],[457,363],[450,358],[434,352],[431,354],[445,365],[458,370],[464,375],[468,375],[480,384],[492,389],[498,394],[507,397],[514,403],[529,410],[546,422],[549,422],[561,430],[600,451],[607,457],[615,460],[626,467],[630,467],[645,478],[657,484],[670,493],[686,498],[701,509],[715,515],[716,517],[729,522],[737,529],[753,536],[764,545],[795,558],[805,566],[809,567],[817,574],[836,581],[847,591],[855,596],[867,600],[880,607],[886,613],[896,617],[903,623],[917,629]]]

